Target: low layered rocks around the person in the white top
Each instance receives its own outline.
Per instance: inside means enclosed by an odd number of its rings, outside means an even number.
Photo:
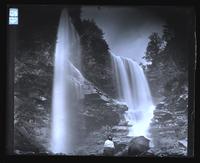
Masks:
[[[131,140],[127,137],[128,127],[125,123],[118,125],[103,125],[99,129],[88,132],[87,136],[81,139],[74,151],[75,155],[103,155],[104,142],[108,135],[113,136],[115,145],[114,156],[122,156],[123,151],[127,150],[128,142]]]

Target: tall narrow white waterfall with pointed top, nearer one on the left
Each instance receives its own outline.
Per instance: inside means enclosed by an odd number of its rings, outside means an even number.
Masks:
[[[50,149],[53,153],[72,153],[72,97],[82,98],[83,77],[73,65],[79,56],[80,41],[66,9],[63,9],[57,32],[52,92]],[[73,101],[77,103],[77,101]]]

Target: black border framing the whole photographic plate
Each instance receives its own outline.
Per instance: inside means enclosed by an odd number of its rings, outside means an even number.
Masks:
[[[6,141],[7,141],[7,137],[6,137],[6,125],[8,122],[6,116],[8,115],[9,112],[7,112],[7,108],[10,106],[12,106],[12,101],[10,102],[9,99],[11,99],[12,96],[12,88],[13,88],[13,84],[12,82],[9,80],[11,78],[13,78],[13,73],[10,70],[10,68],[12,67],[12,63],[13,63],[13,59],[11,56],[6,55],[7,54],[7,5],[17,5],[17,4],[70,4],[70,5],[176,5],[176,6],[191,6],[195,8],[195,12],[196,12],[196,38],[197,41],[199,41],[199,36],[200,36],[200,29],[199,29],[199,22],[200,22],[200,4],[198,3],[198,0],[5,0],[2,5],[0,6],[1,9],[1,17],[0,17],[0,23],[1,23],[1,43],[0,43],[0,50],[1,50],[1,70],[3,70],[1,74],[3,74],[4,76],[1,77],[0,79],[0,86],[1,86],[1,90],[0,91],[2,93],[1,96],[1,110],[0,110],[0,161],[4,161],[4,162],[11,162],[11,161],[84,161],[84,159],[86,158],[87,160],[90,161],[95,161],[95,160],[100,160],[100,161],[104,161],[104,160],[113,160],[113,161],[124,161],[124,160],[130,160],[130,161],[171,161],[171,160],[180,160],[180,161],[195,161],[197,159],[199,159],[199,155],[200,155],[200,149],[199,149],[199,142],[200,142],[200,138],[199,138],[199,134],[197,134],[197,132],[199,132],[198,129],[198,122],[197,120],[200,119],[200,115],[199,115],[199,110],[196,109],[197,108],[197,102],[199,101],[199,99],[197,99],[199,94],[198,92],[198,78],[195,78],[195,76],[197,77],[197,73],[199,71],[199,65],[198,62],[195,66],[194,60],[196,57],[196,61],[199,61],[199,54],[197,55],[197,53],[199,53],[199,44],[198,42],[196,42],[197,46],[196,46],[196,55],[192,55],[189,57],[189,106],[191,106],[193,109],[193,113],[194,117],[189,117],[190,120],[194,121],[195,123],[195,127],[190,125],[188,126],[190,129],[190,136],[191,137],[195,137],[194,141],[194,157],[188,157],[188,158],[174,158],[174,157],[167,157],[167,158],[158,158],[158,157],[153,157],[153,158],[136,158],[136,157],[98,157],[98,156],[84,156],[84,157],[78,157],[78,156],[69,156],[69,157],[63,157],[63,156],[9,156],[6,154]],[[3,82],[3,83],[2,83]],[[196,85],[194,85],[196,83]],[[12,126],[10,126],[12,127]],[[195,128],[195,132],[194,129]],[[11,129],[11,128],[10,128]]]

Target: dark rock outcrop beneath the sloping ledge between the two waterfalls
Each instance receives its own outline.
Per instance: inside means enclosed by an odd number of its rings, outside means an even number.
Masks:
[[[117,125],[128,109],[126,105],[118,104],[92,83],[90,83],[90,88],[92,88],[92,92],[87,91],[84,98],[80,100],[80,109],[78,110],[80,122],[77,124],[81,124],[79,133],[82,133],[79,136],[83,136],[83,138],[103,126]]]

